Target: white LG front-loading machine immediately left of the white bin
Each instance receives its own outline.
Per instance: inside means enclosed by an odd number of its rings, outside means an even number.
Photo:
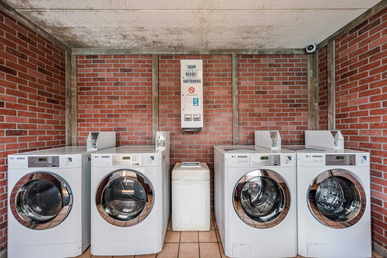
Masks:
[[[158,253],[169,218],[169,148],[121,146],[91,158],[91,253]]]

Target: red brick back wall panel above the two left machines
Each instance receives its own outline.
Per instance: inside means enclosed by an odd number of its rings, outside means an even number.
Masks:
[[[152,145],[152,56],[78,55],[78,144],[116,131],[116,145]]]

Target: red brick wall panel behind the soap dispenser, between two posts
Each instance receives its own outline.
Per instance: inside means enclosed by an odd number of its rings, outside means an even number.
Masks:
[[[203,59],[203,131],[181,131],[180,59]],[[159,56],[159,130],[171,131],[171,169],[182,160],[207,162],[211,203],[214,145],[232,144],[231,85],[231,55]]]

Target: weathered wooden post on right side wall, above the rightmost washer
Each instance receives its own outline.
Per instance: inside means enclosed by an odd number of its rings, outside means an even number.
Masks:
[[[335,41],[328,42],[328,130],[336,130]]]

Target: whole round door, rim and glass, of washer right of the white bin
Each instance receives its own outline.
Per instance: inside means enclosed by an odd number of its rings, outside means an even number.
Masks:
[[[271,170],[254,170],[237,182],[234,208],[246,224],[267,229],[281,223],[290,207],[290,192],[284,179]]]

